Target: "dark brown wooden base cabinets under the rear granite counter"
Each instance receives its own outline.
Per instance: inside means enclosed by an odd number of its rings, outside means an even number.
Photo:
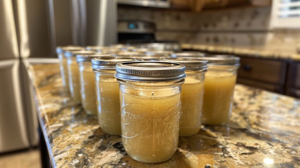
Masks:
[[[207,50],[193,49],[185,49],[185,51],[228,54],[219,51],[208,52]],[[251,55],[236,56],[241,59],[237,83],[300,98],[300,60]]]

